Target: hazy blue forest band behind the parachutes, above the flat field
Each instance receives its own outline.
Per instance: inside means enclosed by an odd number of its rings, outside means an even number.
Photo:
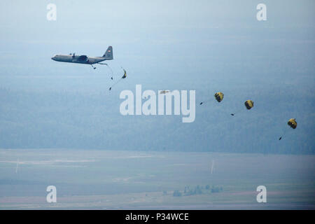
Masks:
[[[196,105],[195,122],[188,124],[181,116],[122,116],[117,92],[0,89],[0,148],[314,153],[313,94],[278,93],[255,92],[255,107],[234,117],[241,99]],[[296,130],[286,125],[293,116]]]

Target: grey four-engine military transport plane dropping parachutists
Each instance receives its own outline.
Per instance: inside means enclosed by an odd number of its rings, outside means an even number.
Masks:
[[[102,64],[100,62],[113,59],[113,48],[112,46],[109,46],[102,57],[87,57],[87,55],[76,55],[73,53],[70,55],[54,55],[51,59],[57,62],[90,64],[93,69],[96,69],[93,64]]]

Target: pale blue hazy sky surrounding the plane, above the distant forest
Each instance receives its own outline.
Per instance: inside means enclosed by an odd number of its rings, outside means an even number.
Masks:
[[[48,3],[57,6],[56,21],[46,19]],[[311,66],[314,1],[264,1],[267,21],[263,22],[256,20],[258,3],[1,1],[1,75],[55,76],[55,71],[60,75],[74,71],[79,76],[90,68],[58,64],[50,57],[70,52],[103,55],[108,45],[114,48],[113,69],[128,68],[138,83],[149,73],[172,82],[174,71],[185,71],[191,80],[208,78],[204,72],[215,66],[225,72],[225,63],[252,60],[254,64],[262,59],[274,63],[288,55],[308,56],[306,61],[300,59]],[[297,50],[307,51],[293,55]],[[235,74],[222,78],[230,77]]]

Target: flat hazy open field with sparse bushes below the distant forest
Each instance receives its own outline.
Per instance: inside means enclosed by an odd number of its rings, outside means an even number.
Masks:
[[[314,162],[314,155],[1,149],[0,209],[315,209]],[[261,185],[267,203],[256,201]],[[47,186],[56,186],[57,203],[46,202]]]

